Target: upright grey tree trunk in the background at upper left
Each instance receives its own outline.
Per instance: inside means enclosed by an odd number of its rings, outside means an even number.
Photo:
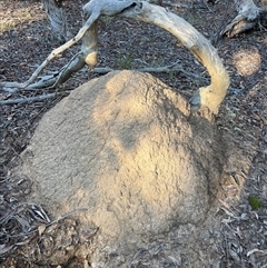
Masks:
[[[62,0],[41,0],[51,24],[51,31],[57,41],[65,43],[70,39]]]

